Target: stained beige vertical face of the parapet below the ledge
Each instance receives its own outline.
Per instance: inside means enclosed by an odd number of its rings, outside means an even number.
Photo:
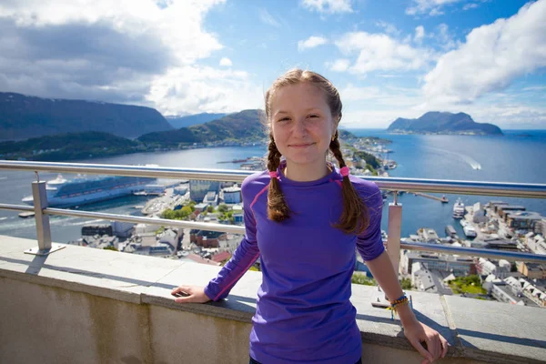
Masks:
[[[249,323],[10,278],[0,278],[0,291],[1,363],[248,362]],[[421,361],[416,352],[375,344],[362,354],[373,363]]]

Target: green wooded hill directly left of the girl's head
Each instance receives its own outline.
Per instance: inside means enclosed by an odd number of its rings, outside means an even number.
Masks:
[[[147,144],[173,146],[179,143],[204,143],[223,140],[251,141],[266,137],[261,123],[262,110],[243,110],[205,124],[181,127],[168,132],[149,133],[138,137]]]

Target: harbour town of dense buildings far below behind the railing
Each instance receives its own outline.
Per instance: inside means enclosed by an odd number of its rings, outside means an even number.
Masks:
[[[396,162],[389,160],[387,140],[359,138],[345,144],[343,153],[351,173],[388,177]],[[220,162],[222,163],[222,162]],[[249,157],[225,163],[240,163],[243,170],[264,170],[263,158]],[[243,226],[243,201],[238,184],[207,180],[182,180],[170,185],[147,185],[144,194],[157,195],[145,206],[136,206],[147,217],[212,222]],[[383,192],[384,202],[387,193]],[[448,202],[445,197],[433,197]],[[546,254],[546,217],[502,201],[469,207],[458,200],[453,217],[460,221],[464,236],[447,225],[445,238],[422,227],[402,241],[443,244],[453,247],[490,248]],[[382,231],[384,243],[388,236]],[[71,244],[106,248],[160,258],[220,266],[238,248],[242,236],[215,231],[157,227],[112,221],[82,227],[82,238]],[[259,270],[259,259],[252,269]],[[537,263],[453,256],[402,250],[399,278],[405,289],[441,295],[498,300],[511,304],[546,307],[546,267]],[[353,283],[373,285],[368,268],[357,254]]]

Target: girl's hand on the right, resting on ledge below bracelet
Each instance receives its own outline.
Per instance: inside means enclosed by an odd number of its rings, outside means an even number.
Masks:
[[[415,323],[404,326],[404,335],[410,340],[413,348],[417,349],[425,359],[421,364],[431,364],[434,360],[444,358],[448,353],[448,340],[444,339],[438,331],[430,329],[427,325],[415,320]],[[427,349],[422,342],[427,344]]]

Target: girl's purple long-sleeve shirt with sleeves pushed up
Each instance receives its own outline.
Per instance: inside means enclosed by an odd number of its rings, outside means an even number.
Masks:
[[[362,354],[356,309],[349,301],[355,248],[364,260],[383,252],[381,193],[372,182],[350,176],[369,210],[369,227],[344,234],[331,224],[343,208],[339,170],[316,181],[278,179],[292,214],[278,223],[268,219],[268,171],[242,185],[245,238],[212,279],[208,298],[226,298],[229,290],[260,258],[262,284],[250,332],[250,356],[264,364],[357,362]]]

